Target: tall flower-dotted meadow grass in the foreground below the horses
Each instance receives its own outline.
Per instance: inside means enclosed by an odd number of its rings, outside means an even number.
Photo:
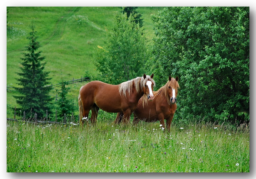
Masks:
[[[7,122],[7,172],[249,172],[249,129]]]

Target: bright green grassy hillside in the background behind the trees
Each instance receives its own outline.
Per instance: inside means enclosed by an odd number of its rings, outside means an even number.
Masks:
[[[150,14],[157,14],[161,9],[138,8],[149,43],[154,37]],[[50,71],[51,83],[56,84],[61,81],[61,76],[69,81],[81,78],[86,72],[98,74],[93,64],[93,51],[97,45],[104,46],[105,32],[113,27],[114,18],[121,11],[119,7],[9,7],[8,10],[8,25],[14,32],[7,36],[7,86],[17,86],[15,78],[19,76],[15,72],[19,71],[21,53],[28,45],[32,21],[38,31],[39,50],[46,57],[45,70]],[[69,85],[69,98],[75,103],[83,84]],[[17,106],[14,94],[7,91],[7,114]]]

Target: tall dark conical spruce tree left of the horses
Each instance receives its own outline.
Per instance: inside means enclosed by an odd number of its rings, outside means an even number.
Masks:
[[[36,31],[32,24],[32,31],[29,33],[29,45],[26,47],[27,53],[22,53],[24,58],[21,58],[22,66],[21,72],[17,72],[20,78],[17,79],[19,87],[15,89],[20,94],[14,96],[17,103],[20,105],[20,110],[25,111],[26,114],[30,114],[33,117],[37,113],[38,117],[43,117],[46,110],[49,111],[49,102],[52,100],[49,96],[49,92],[52,89],[51,86],[47,86],[51,78],[48,77],[49,72],[45,72],[45,62],[42,62],[45,57],[40,57],[41,51],[38,51],[40,45],[36,41]]]

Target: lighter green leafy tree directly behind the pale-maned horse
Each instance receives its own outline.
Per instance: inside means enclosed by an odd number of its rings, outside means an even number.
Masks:
[[[148,60],[147,40],[134,16],[122,14],[116,17],[115,25],[107,33],[106,45],[98,46],[95,53],[97,70],[102,81],[119,84],[145,73]]]

